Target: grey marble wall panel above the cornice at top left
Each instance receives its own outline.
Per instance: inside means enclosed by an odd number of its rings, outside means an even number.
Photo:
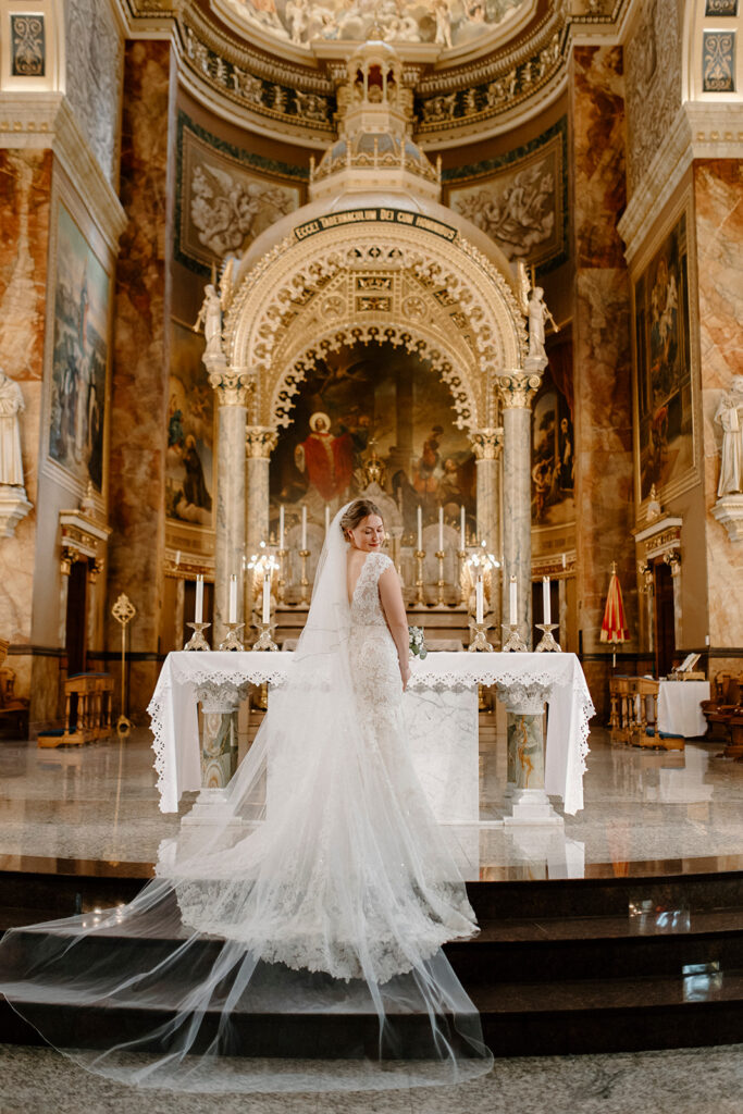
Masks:
[[[67,0],[65,46],[67,96],[101,170],[115,182],[124,41],[109,0]]]

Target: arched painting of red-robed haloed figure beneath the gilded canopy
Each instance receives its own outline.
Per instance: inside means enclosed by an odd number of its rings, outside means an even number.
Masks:
[[[419,505],[424,524],[459,528],[460,506],[476,529],[475,458],[456,427],[451,394],[430,365],[392,345],[342,348],[307,372],[292,424],[271,459],[272,529],[278,505],[306,504],[322,524],[377,479],[412,535]]]

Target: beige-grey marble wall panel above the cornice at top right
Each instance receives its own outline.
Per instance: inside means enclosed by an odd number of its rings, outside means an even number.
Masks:
[[[625,48],[629,195],[681,107],[681,51],[677,0],[642,0],[641,17]]]

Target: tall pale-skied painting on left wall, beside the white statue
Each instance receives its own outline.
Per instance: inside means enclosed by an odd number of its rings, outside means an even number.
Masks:
[[[110,280],[60,203],[49,456],[84,486],[104,486]]]

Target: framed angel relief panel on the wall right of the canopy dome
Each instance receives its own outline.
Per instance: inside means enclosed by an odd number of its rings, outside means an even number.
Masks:
[[[450,185],[447,202],[498,244],[509,260],[535,266],[565,252],[564,137],[525,157]]]

